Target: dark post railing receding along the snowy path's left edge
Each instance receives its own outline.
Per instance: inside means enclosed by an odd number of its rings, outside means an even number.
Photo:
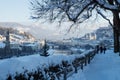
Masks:
[[[50,75],[51,80],[55,80],[55,77],[57,77],[58,80],[67,80],[67,77],[71,76],[73,73],[77,73],[78,69],[83,70],[84,66],[90,64],[95,54],[96,51],[91,50],[75,58],[72,64],[66,63],[66,66],[64,66],[61,71]]]

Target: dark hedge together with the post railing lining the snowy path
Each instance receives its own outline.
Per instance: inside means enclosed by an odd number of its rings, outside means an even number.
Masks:
[[[35,80],[67,80],[69,76],[77,73],[79,69],[83,70],[84,66],[90,64],[96,53],[96,50],[89,50],[81,55],[77,55],[72,61],[62,61],[57,65],[51,65],[47,68],[44,67],[35,72],[24,72],[15,76],[9,75],[7,80],[12,80],[12,78],[15,80],[23,80],[23,78],[24,80],[30,80],[31,76]],[[28,75],[28,78],[24,76],[25,74]]]

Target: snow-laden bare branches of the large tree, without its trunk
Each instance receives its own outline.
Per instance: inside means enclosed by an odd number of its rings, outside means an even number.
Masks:
[[[83,22],[92,16],[92,10],[104,8],[111,11],[120,11],[120,0],[33,0],[32,18],[47,19],[50,21]]]

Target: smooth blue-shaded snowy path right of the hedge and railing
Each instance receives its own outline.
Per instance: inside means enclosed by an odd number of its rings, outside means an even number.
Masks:
[[[97,54],[91,64],[68,80],[73,77],[77,80],[120,80],[120,57],[113,50],[107,50],[106,54]]]

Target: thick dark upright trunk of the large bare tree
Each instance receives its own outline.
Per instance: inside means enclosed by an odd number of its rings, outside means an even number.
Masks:
[[[113,34],[114,34],[114,52],[119,52],[119,26],[120,26],[120,19],[119,19],[119,12],[113,12]]]

